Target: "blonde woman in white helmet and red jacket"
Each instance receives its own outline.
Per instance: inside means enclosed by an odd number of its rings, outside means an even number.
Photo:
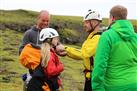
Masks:
[[[56,54],[59,34],[55,29],[44,28],[40,32],[39,40],[42,42],[41,63],[34,70],[27,91],[56,91],[61,86],[59,75],[64,70],[64,65]]]

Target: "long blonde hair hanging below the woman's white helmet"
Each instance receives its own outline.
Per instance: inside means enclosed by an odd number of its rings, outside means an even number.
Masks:
[[[48,60],[50,59],[50,47],[51,45],[47,42],[44,42],[41,45],[41,56],[42,56],[41,65],[42,67],[46,67]]]

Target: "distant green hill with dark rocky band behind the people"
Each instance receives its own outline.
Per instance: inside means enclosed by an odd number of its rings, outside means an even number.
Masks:
[[[24,32],[34,25],[38,12],[28,10],[0,10],[0,29],[12,29]],[[83,30],[82,17],[51,15],[50,27],[58,27],[64,42],[82,42],[86,36]],[[102,25],[108,25],[108,19],[103,18]],[[137,26],[137,20],[131,20]],[[137,28],[137,27],[136,27]],[[64,36],[65,34],[65,36]],[[84,34],[84,35],[83,35]]]

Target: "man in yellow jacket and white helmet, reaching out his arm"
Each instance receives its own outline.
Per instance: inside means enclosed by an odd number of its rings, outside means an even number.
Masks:
[[[67,56],[84,61],[85,86],[84,91],[92,91],[91,88],[91,73],[93,70],[93,58],[95,55],[98,40],[101,32],[99,31],[101,23],[100,14],[96,11],[89,10],[84,16],[84,30],[88,33],[88,37],[82,45],[81,49],[76,49],[68,46],[58,46],[58,48],[65,50]]]

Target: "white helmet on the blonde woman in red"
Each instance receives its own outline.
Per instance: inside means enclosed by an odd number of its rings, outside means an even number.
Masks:
[[[54,38],[59,36],[58,32],[53,28],[44,28],[40,32],[39,40],[44,41],[47,38]]]

